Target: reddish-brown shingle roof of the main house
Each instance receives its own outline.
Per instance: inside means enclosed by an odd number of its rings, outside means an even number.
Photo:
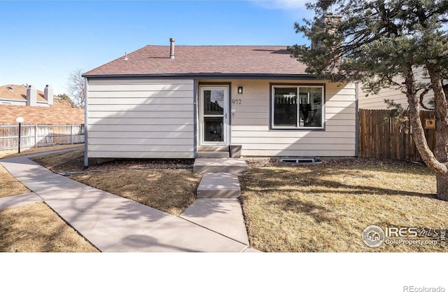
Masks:
[[[83,74],[99,76],[303,75],[286,46],[146,46]]]

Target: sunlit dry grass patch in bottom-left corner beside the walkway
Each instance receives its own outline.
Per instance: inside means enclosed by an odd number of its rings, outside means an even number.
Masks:
[[[2,252],[97,252],[44,203],[0,210]]]

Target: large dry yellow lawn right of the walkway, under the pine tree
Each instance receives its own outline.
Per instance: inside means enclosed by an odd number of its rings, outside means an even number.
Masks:
[[[356,160],[354,160],[356,161]],[[448,202],[420,165],[344,161],[295,167],[253,166],[240,176],[251,246],[261,251],[446,251],[441,246],[363,243],[368,225],[440,228]]]

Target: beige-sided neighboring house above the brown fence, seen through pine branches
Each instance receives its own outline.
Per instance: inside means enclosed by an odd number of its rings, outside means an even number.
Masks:
[[[417,82],[424,82],[428,83],[429,79],[423,76],[422,71],[416,71],[415,78]],[[402,80],[397,80],[396,82],[402,83]],[[421,91],[419,91],[418,94],[420,94]],[[428,94],[425,95],[423,98],[423,104],[428,108],[431,109],[433,106],[428,104],[428,101],[434,97],[434,94],[432,91],[428,92]],[[407,97],[404,93],[402,93],[400,90],[396,90],[393,88],[384,88],[379,90],[377,95],[369,94],[366,96],[366,92],[360,88],[359,93],[359,108],[360,109],[387,109],[387,104],[384,102],[384,99],[390,99],[393,100],[396,104],[400,104],[403,108],[407,108]],[[421,110],[424,110],[421,108]]]

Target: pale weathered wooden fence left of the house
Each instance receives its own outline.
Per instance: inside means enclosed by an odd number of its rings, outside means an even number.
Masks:
[[[0,150],[18,148],[18,124],[0,124]],[[84,124],[22,125],[20,148],[84,143]]]

